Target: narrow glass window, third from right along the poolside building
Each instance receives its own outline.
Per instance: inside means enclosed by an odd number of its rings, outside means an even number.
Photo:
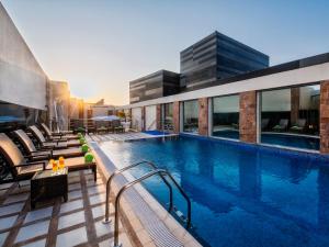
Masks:
[[[198,102],[197,100],[183,103],[184,132],[198,133]]]

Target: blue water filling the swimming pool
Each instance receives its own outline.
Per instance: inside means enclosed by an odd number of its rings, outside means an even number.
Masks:
[[[101,145],[122,166],[149,159],[167,168],[192,200],[192,234],[204,246],[329,246],[325,161],[193,137]],[[166,206],[160,180],[145,186]],[[185,212],[179,193],[174,201]]]

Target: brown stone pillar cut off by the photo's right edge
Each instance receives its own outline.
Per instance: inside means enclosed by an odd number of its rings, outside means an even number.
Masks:
[[[320,153],[329,154],[329,80],[320,85]]]

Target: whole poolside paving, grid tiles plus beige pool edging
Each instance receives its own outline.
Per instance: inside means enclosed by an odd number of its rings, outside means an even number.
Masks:
[[[99,136],[98,136],[99,137]],[[102,138],[103,136],[99,137]],[[68,202],[60,198],[30,209],[30,181],[0,184],[0,246],[113,246],[114,194],[111,194],[111,224],[104,225],[105,182],[115,165],[91,147],[98,161],[98,181],[91,171],[69,173]],[[118,176],[112,192],[131,181]],[[140,184],[121,200],[120,244],[123,247],[200,247],[201,245]]]

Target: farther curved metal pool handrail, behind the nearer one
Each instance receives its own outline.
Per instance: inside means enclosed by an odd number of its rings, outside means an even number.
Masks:
[[[106,205],[105,205],[105,218],[103,221],[104,224],[107,224],[107,223],[111,223],[111,220],[110,220],[110,195],[111,195],[111,182],[113,180],[113,178],[116,176],[116,175],[120,175],[128,169],[132,169],[134,167],[137,167],[139,165],[143,165],[143,164],[146,164],[146,165],[149,165],[152,169],[157,170],[158,168],[156,167],[155,164],[152,164],[151,161],[148,161],[148,160],[141,160],[139,162],[135,162],[135,164],[132,164],[127,167],[124,167],[122,169],[118,169],[118,170],[115,170],[111,176],[110,178],[107,179],[107,182],[106,182]],[[169,209],[168,209],[168,212],[171,212],[172,211],[172,187],[171,184],[166,180],[166,178],[160,175],[160,178],[162,179],[162,181],[167,184],[167,187],[169,188]]]

